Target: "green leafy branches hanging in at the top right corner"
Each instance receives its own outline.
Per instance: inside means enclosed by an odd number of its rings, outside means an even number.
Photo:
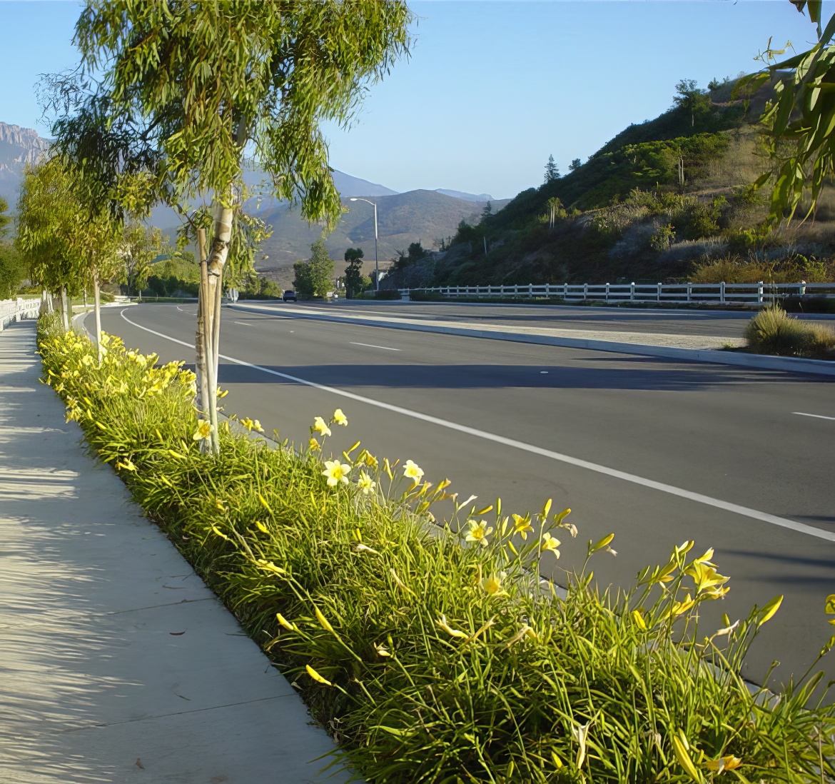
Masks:
[[[774,83],[774,97],[761,122],[771,166],[757,187],[774,181],[768,221],[788,221],[803,206],[806,216],[817,207],[822,186],[835,173],[835,16],[822,28],[822,3],[793,0],[817,28],[817,43],[802,53],[779,58],[791,47],[768,47],[760,59],[766,68],[742,79],[736,93],[748,94]],[[804,203],[805,202],[805,203]]]

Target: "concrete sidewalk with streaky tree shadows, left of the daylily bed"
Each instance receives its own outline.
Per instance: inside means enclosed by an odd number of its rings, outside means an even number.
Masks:
[[[0,781],[347,781],[331,739],[0,333]]]

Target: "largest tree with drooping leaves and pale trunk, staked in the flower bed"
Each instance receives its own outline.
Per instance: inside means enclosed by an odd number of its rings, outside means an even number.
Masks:
[[[74,38],[78,94],[89,94],[56,125],[58,144],[114,204],[211,197],[200,313],[219,333],[245,152],[271,196],[301,202],[309,221],[335,221],[321,122],[350,124],[367,85],[408,53],[411,19],[405,3],[376,0],[89,0]],[[216,351],[211,359],[214,386]]]

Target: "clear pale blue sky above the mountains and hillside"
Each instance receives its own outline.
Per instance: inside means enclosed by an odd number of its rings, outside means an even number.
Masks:
[[[832,13],[835,3],[827,3]],[[549,154],[566,171],[619,130],[659,115],[683,78],[755,68],[768,38],[814,37],[788,0],[410,3],[412,57],[372,87],[360,119],[328,128],[331,165],[396,191],[514,196]],[[38,74],[76,62],[78,5],[0,2],[0,120],[38,127]]]

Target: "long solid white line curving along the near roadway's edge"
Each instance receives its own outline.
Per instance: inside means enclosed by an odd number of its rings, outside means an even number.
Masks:
[[[124,315],[124,310],[122,311],[122,318],[124,318],[126,322],[132,324],[134,327],[144,329],[145,332],[149,332],[152,335],[156,335],[159,338],[164,338],[165,340],[170,340],[172,343],[179,343],[182,346],[188,346],[190,349],[194,349],[194,344],[186,343],[185,340],[172,338],[170,337],[170,335],[164,335],[161,332],[155,332],[153,329],[143,327],[141,324],[131,321],[127,316]],[[383,403],[382,400],[373,400],[372,398],[363,397],[362,395],[356,395],[353,392],[347,392],[345,389],[337,389],[336,387],[326,386],[325,384],[316,384],[315,381],[308,381],[307,379],[300,379],[295,375],[280,373],[278,370],[265,368],[262,367],[260,364],[252,364],[251,362],[245,362],[243,359],[235,359],[235,357],[228,357],[225,354],[220,354],[220,357],[221,359],[226,359],[229,362],[243,365],[245,368],[261,370],[263,373],[278,376],[280,379],[287,379],[288,381],[293,381],[296,384],[304,384],[305,386],[313,387],[314,389],[321,389],[323,392],[331,392],[333,395],[342,395],[342,397],[348,398],[349,400],[358,400],[360,403],[374,405],[380,409],[393,411],[395,414],[409,416],[412,417],[412,419],[422,420],[423,422],[429,422],[432,425],[446,427],[449,430],[457,430],[459,433],[474,435],[476,438],[483,438],[484,440],[493,441],[493,443],[495,444],[512,446],[514,447],[514,449],[530,452],[532,455],[548,457],[550,460],[559,461],[561,463],[567,463],[569,466],[585,468],[588,471],[595,471],[595,473],[598,474],[612,476],[615,479],[622,479],[623,481],[628,481],[635,485],[650,487],[652,490],[665,492],[671,496],[678,496],[679,498],[686,498],[688,501],[696,501],[696,503],[705,504],[707,507],[715,507],[716,509],[721,509],[725,512],[733,512],[734,514],[741,515],[742,517],[750,517],[752,520],[768,522],[771,523],[772,526],[788,528],[792,531],[797,531],[798,533],[805,533],[810,537],[826,539],[827,542],[835,542],[835,532],[824,531],[822,528],[808,526],[805,522],[789,520],[787,517],[777,517],[777,515],[770,515],[767,512],[758,512],[757,509],[741,507],[739,504],[733,504],[729,501],[721,501],[721,499],[719,498],[703,496],[701,493],[692,492],[690,490],[683,490],[681,487],[676,487],[673,485],[665,485],[664,482],[655,481],[654,479],[646,479],[643,476],[635,476],[635,474],[628,474],[625,471],[618,471],[615,468],[609,468],[608,466],[600,466],[597,463],[591,463],[590,461],[580,460],[578,457],[563,455],[560,452],[554,452],[549,449],[544,449],[541,446],[536,446],[534,444],[526,444],[524,443],[524,441],[517,441],[513,438],[505,438],[504,435],[488,433],[485,430],[478,430],[474,427],[468,427],[468,425],[459,425],[458,422],[442,420],[437,416],[421,414],[420,411],[404,409],[401,408],[399,405],[392,405],[391,403]]]

